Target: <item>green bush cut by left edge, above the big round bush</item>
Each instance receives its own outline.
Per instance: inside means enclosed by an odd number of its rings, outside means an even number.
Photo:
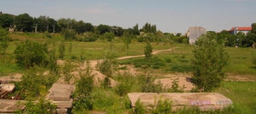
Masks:
[[[8,33],[8,31],[0,28],[0,54],[4,54],[6,48],[8,47],[8,42],[10,41]]]

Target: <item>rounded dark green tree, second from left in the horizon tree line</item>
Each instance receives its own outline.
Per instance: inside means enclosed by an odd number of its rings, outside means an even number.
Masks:
[[[23,32],[33,31],[33,23],[34,19],[29,14],[19,14],[15,17],[16,28]]]

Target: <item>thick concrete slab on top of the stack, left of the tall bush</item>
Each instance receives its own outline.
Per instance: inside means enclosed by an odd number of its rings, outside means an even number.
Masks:
[[[47,98],[49,100],[70,100],[74,86],[69,84],[54,83],[49,89]]]

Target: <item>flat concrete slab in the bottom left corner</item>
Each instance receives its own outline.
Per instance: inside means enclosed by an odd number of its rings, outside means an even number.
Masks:
[[[25,106],[20,104],[23,100],[2,100],[0,99],[0,114],[13,113],[17,110],[23,110]]]

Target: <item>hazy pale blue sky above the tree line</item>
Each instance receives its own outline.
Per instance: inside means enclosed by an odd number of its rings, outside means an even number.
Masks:
[[[0,11],[122,28],[138,23],[140,29],[148,22],[162,32],[182,34],[190,26],[220,32],[256,22],[256,0],[0,0]]]

